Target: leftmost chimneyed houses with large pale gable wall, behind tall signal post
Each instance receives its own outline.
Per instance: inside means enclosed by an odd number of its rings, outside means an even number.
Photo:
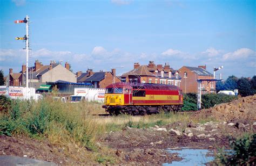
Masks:
[[[67,62],[63,67],[55,61],[52,61],[49,65],[43,65],[36,60],[35,66],[30,67],[28,73],[29,86],[33,86],[33,88],[38,88],[37,86],[46,82],[56,82],[58,80],[76,82],[76,75],[69,70],[69,63]],[[13,73],[10,68],[6,77],[6,84],[9,86],[26,86],[26,66],[23,64],[19,73]]]

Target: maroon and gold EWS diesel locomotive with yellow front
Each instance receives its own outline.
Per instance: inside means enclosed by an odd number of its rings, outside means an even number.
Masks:
[[[104,105],[110,115],[145,115],[180,111],[182,91],[178,86],[150,83],[114,83],[106,87]]]

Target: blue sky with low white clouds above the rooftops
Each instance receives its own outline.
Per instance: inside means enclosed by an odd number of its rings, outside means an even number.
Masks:
[[[29,1],[0,0],[0,69],[26,62],[25,24],[30,17],[29,66],[35,60],[71,69],[133,69],[133,63],[170,67],[224,66],[217,71],[256,74],[256,1]],[[123,68],[119,68],[123,67]]]

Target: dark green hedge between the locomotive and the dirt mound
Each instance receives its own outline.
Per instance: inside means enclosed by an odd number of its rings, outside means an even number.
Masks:
[[[223,93],[210,93],[202,95],[201,99],[201,108],[208,109],[214,105],[221,103],[228,103],[232,100],[237,99],[236,96],[225,95]],[[184,107],[183,111],[194,111],[197,110],[197,94],[196,93],[187,93],[183,97]]]

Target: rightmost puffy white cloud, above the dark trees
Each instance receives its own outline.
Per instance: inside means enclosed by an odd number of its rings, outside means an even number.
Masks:
[[[246,59],[250,55],[255,56],[255,52],[249,48],[240,48],[234,52],[224,54],[223,60]]]

